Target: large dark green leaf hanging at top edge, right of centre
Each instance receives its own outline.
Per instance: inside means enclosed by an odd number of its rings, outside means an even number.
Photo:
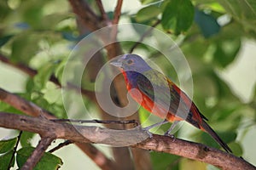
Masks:
[[[190,0],[171,0],[164,10],[161,24],[176,35],[187,31],[194,20],[194,6]]]

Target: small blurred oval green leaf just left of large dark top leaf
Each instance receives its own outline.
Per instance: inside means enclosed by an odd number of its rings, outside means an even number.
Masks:
[[[150,5],[148,7],[142,8],[137,12],[136,20],[137,22],[143,22],[146,20],[151,20],[160,14],[161,10],[158,6]]]

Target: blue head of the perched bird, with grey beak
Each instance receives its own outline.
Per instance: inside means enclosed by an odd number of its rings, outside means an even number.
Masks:
[[[110,61],[111,65],[121,68],[123,71],[136,71],[143,73],[152,68],[137,54],[120,55]]]

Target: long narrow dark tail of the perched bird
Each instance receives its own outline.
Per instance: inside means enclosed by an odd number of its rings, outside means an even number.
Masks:
[[[228,153],[232,153],[232,150],[230,149],[228,144],[225,144],[224,141],[219,138],[218,134],[214,132],[212,127],[210,127],[204,120],[201,122],[201,129],[209,133],[212,138],[215,139],[218,144],[220,144],[224,148],[224,150],[226,150]]]

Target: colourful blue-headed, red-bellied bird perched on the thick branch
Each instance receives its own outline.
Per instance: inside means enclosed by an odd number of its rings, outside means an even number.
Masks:
[[[152,69],[143,58],[137,54],[124,54],[112,59],[110,64],[119,67],[123,73],[131,97],[146,110],[164,119],[163,122],[146,127],[147,130],[173,122],[165,133],[169,135],[177,122],[186,121],[209,133],[224,150],[232,153],[230,147],[207,124],[207,118],[201,114],[189,96],[160,71]]]

